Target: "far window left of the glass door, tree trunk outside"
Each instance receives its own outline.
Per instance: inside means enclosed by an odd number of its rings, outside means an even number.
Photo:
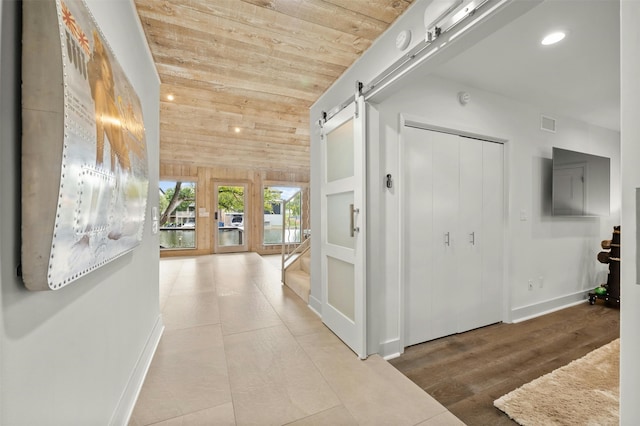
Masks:
[[[196,183],[160,181],[160,249],[196,248]]]

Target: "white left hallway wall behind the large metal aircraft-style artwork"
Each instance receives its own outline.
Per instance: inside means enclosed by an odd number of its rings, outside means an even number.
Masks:
[[[130,0],[88,0],[142,101],[150,188],[158,185],[159,79]],[[0,424],[126,421],[162,328],[158,237],[55,292],[29,292],[20,263],[20,3],[0,7]],[[158,204],[149,191],[148,210]],[[37,208],[32,207],[32,208]]]

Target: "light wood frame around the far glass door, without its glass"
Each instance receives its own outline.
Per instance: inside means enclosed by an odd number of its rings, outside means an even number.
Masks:
[[[243,245],[239,246],[218,246],[218,219],[216,219],[216,213],[218,213],[218,187],[220,186],[244,186],[244,218],[243,218]],[[252,242],[252,229],[253,229],[253,210],[251,203],[252,182],[248,179],[211,179],[211,253],[242,253],[248,252],[251,249]],[[240,248],[240,249],[239,249]]]

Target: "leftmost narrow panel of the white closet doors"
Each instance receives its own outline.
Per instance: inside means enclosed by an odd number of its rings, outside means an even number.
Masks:
[[[431,132],[403,131],[405,345],[432,339],[433,144]]]

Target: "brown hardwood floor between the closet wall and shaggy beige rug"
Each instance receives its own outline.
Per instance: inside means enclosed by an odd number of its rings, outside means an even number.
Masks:
[[[390,362],[467,425],[513,425],[495,399],[619,337],[620,311],[600,303],[422,343]]]

